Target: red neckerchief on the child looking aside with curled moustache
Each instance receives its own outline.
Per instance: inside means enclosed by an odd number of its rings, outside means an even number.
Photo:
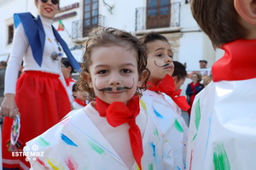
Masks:
[[[158,86],[154,86],[154,84],[148,82],[148,89],[152,91],[159,91],[167,94],[172,98],[172,100],[177,104],[179,108],[183,111],[188,111],[190,106],[187,102],[185,96],[179,96],[181,93],[181,89],[175,89],[175,84],[173,78],[166,74],[166,77],[158,84]]]

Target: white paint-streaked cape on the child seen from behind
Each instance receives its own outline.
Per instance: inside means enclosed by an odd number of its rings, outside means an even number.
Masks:
[[[189,170],[256,169],[256,78],[211,82],[192,107]]]

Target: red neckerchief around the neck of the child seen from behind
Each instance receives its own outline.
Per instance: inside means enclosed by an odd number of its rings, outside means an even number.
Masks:
[[[236,40],[223,45],[225,54],[212,65],[213,82],[256,77],[256,40]]]

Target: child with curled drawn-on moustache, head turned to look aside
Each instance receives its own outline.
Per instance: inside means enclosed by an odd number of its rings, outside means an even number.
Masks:
[[[173,164],[170,169],[186,168],[187,125],[183,117],[175,111],[175,105],[165,99],[168,95],[186,111],[186,99],[177,97],[172,73],[172,49],[166,37],[150,32],[140,38],[148,54],[147,68],[150,71],[148,90],[143,92],[141,105],[150,114],[160,132],[172,147]],[[164,94],[163,94],[164,93]]]

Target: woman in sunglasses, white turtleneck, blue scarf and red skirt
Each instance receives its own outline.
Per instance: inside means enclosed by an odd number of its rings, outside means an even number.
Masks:
[[[6,71],[5,98],[1,115],[3,122],[3,168],[27,169],[25,156],[12,156],[12,151],[22,150],[25,143],[44,133],[71,111],[71,105],[61,74],[63,53],[73,61],[66,42],[52,26],[58,11],[58,0],[36,0],[39,15],[15,14],[15,36]],[[24,74],[17,81],[21,61]],[[20,113],[20,137],[15,145],[9,143],[13,117]]]

